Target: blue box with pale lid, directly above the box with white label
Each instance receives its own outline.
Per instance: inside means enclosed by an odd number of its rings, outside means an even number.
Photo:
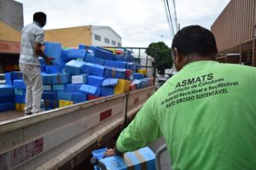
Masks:
[[[84,66],[83,61],[78,61],[78,60],[71,60],[66,63],[65,65],[65,72],[72,74],[72,75],[79,75],[82,73],[82,69]]]

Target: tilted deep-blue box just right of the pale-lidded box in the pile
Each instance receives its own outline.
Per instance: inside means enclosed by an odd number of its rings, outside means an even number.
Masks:
[[[90,73],[92,75],[96,75],[102,77],[104,75],[105,67],[102,65],[97,65],[93,63],[85,63],[83,67],[83,71],[86,73]]]

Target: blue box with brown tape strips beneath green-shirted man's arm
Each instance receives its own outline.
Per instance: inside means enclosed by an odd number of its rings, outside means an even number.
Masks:
[[[101,161],[107,169],[111,170],[155,170],[154,152],[148,147],[133,152],[126,152],[123,156],[109,156],[101,159]]]

